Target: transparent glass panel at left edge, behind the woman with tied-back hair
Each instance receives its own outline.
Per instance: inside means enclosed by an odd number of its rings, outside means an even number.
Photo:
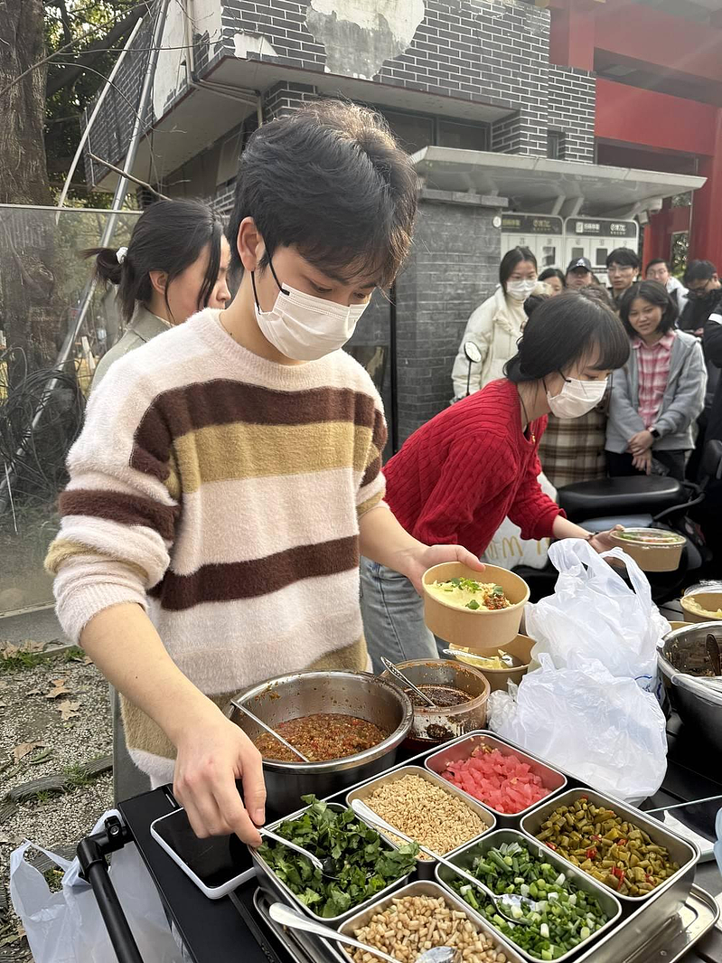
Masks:
[[[140,213],[118,215],[114,247]],[[121,333],[113,292],[96,289],[68,363],[56,366],[91,274],[82,251],[98,246],[109,215],[0,205],[0,612],[52,601],[42,562],[95,363]]]

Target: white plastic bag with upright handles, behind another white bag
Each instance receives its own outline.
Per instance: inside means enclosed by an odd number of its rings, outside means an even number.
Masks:
[[[670,625],[652,601],[646,576],[621,549],[603,555],[581,538],[555,542],[549,558],[559,572],[554,595],[527,606],[532,659],[549,652],[557,668],[571,653],[598,659],[613,676],[657,691],[657,649]],[[623,560],[633,591],[607,558]]]

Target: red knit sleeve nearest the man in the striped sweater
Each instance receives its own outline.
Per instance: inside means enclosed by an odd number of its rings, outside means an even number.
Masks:
[[[475,435],[454,444],[426,499],[413,534],[426,545],[456,545],[460,530],[489,517],[488,540],[502,518],[494,519],[490,503],[515,481],[515,463],[493,436]]]

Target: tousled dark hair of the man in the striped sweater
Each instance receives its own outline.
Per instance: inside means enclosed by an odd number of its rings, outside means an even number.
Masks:
[[[250,137],[226,231],[232,267],[243,270],[238,232],[250,217],[266,246],[259,270],[278,247],[297,247],[329,276],[388,287],[411,247],[416,204],[416,172],[383,117],[320,101]]]

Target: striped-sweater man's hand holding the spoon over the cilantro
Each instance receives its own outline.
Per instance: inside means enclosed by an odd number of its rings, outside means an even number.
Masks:
[[[185,806],[195,835],[235,833],[244,843],[260,846],[256,826],[266,820],[266,787],[261,753],[245,732],[209,703],[206,716],[189,720],[176,747],[173,794]],[[244,800],[236,779],[243,779]]]

